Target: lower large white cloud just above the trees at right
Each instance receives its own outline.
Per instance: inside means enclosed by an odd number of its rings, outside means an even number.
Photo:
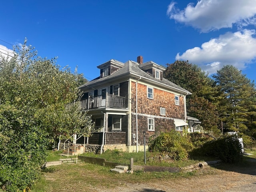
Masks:
[[[255,30],[228,32],[203,43],[201,47],[188,49],[181,55],[178,53],[176,59],[188,60],[209,74],[227,64],[242,70],[256,59],[255,34]]]

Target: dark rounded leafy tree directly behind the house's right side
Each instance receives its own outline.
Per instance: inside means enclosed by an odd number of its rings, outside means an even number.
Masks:
[[[198,118],[205,130],[218,133],[217,89],[214,81],[197,65],[188,61],[167,64],[164,77],[192,92],[187,98],[188,115]]]

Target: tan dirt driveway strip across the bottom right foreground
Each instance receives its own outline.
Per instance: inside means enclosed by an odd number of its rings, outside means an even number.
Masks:
[[[162,180],[158,183],[120,183],[114,189],[98,192],[256,192],[256,159],[246,160],[246,166],[220,164],[198,170],[200,174],[190,178]],[[212,174],[205,175],[209,170]]]

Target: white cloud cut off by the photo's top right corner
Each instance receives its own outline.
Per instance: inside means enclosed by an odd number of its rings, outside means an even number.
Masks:
[[[209,32],[221,28],[232,28],[256,24],[255,0],[199,0],[190,3],[184,10],[175,7],[174,2],[168,6],[167,15],[176,22]]]

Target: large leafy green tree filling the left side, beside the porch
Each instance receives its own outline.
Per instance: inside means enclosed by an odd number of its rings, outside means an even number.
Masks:
[[[57,137],[90,135],[90,116],[79,110],[81,74],[37,57],[32,46],[0,58],[0,186],[28,190],[38,178],[46,149]]]

